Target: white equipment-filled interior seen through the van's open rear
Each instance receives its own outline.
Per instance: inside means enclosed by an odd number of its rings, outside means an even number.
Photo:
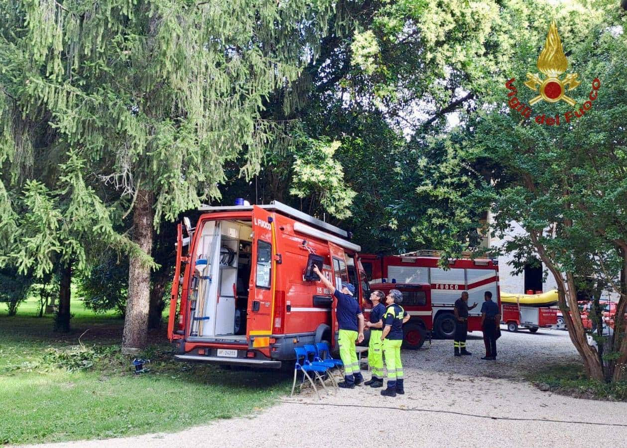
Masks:
[[[201,232],[190,339],[245,341],[251,221],[208,221]]]

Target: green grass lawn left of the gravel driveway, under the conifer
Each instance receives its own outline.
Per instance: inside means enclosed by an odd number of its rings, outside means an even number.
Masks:
[[[93,314],[73,301],[73,330],[61,334],[52,331],[52,316],[35,317],[33,300],[13,317],[0,307],[0,444],[174,431],[255,412],[289,390],[287,376],[276,371],[174,362],[164,331],[149,336],[144,356],[152,370],[133,375],[119,351],[119,316]],[[55,354],[82,334],[93,367],[68,371]]]

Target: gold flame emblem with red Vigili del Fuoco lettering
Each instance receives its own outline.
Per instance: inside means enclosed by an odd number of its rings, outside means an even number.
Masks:
[[[577,73],[566,73],[566,76],[561,78],[562,73],[566,72],[568,69],[568,60],[566,59],[566,55],[564,55],[562,41],[557,34],[555,21],[551,22],[549,33],[547,33],[547,40],[544,42],[544,48],[542,48],[542,53],[540,53],[537,65],[538,70],[544,73],[545,77],[541,78],[537,73],[527,73],[527,81],[524,82],[524,86],[536,92],[537,95],[529,100],[529,105],[520,102],[516,96],[518,89],[514,86],[516,79],[512,78],[505,83],[505,87],[510,90],[507,94],[509,97],[507,102],[509,107],[520,112],[520,115],[525,117],[525,119],[528,119],[534,113],[530,106],[541,101],[547,103],[564,101],[571,105],[571,107],[575,107],[577,100],[571,98],[566,93],[576,89],[581,82],[577,80]],[[600,87],[601,82],[599,78],[594,78],[588,99],[579,107],[579,110],[575,107],[574,110],[566,112],[566,114],[564,114],[564,120],[569,123],[571,120],[586,114],[586,111],[592,108]],[[535,115],[535,122],[547,126],[559,126],[560,115],[558,113],[552,117],[546,114],[538,114]]]

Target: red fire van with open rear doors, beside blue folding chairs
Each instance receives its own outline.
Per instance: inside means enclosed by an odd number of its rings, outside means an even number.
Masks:
[[[279,368],[294,347],[335,345],[329,289],[312,267],[367,294],[360,247],[344,230],[273,201],[203,206],[195,228],[178,227],[168,337],[176,359]],[[365,291],[364,291],[365,290]]]

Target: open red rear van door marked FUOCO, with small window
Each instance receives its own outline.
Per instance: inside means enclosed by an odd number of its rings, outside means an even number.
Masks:
[[[253,206],[253,253],[246,313],[246,338],[253,348],[269,349],[272,334],[277,277],[273,215]]]

